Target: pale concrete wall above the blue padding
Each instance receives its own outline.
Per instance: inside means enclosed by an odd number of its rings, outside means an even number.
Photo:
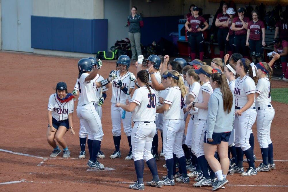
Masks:
[[[33,15],[81,19],[103,19],[104,0],[34,0]]]

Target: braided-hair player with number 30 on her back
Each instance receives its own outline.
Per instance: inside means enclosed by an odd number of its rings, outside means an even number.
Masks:
[[[150,89],[149,74],[146,70],[137,73],[137,82],[140,86],[136,89],[133,97],[127,105],[116,103],[116,107],[121,107],[127,112],[133,111],[132,118],[134,127],[132,129],[132,156],[134,159],[135,170],[137,174],[137,182],[129,185],[130,189],[144,190],[143,170],[144,161],[146,161],[153,179],[146,184],[152,187],[162,187],[159,179],[156,161],[151,154],[152,140],[156,132],[155,116],[156,116],[156,92]]]

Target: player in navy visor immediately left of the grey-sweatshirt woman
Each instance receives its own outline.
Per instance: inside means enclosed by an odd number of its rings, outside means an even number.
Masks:
[[[209,178],[208,173],[208,163],[204,156],[204,132],[207,126],[207,114],[208,114],[208,100],[213,92],[210,85],[210,77],[212,75],[212,67],[209,65],[203,65],[200,69],[196,69],[195,73],[198,74],[200,81],[204,84],[200,87],[199,94],[197,97],[198,102],[192,102],[187,105],[187,110],[196,111],[195,107],[198,108],[198,120],[199,125],[196,129],[195,134],[195,155],[197,157],[197,162],[201,167],[202,176],[199,176],[199,181],[194,183],[194,187],[211,186],[212,182]]]

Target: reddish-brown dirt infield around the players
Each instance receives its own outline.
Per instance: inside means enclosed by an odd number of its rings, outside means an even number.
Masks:
[[[80,58],[79,58],[80,59]],[[106,155],[100,162],[113,170],[93,171],[88,169],[88,159],[77,159],[79,147],[79,119],[74,112],[74,130],[76,134],[65,135],[71,156],[49,158],[52,148],[46,140],[47,106],[49,96],[59,81],[67,83],[68,91],[75,85],[79,59],[46,57],[33,54],[0,52],[1,61],[1,141],[0,141],[0,191],[127,191],[128,185],[136,180],[133,161],[125,161],[129,152],[125,133],[122,131],[120,150],[122,158],[109,159],[114,151],[111,133],[110,99],[103,105],[102,125],[104,137],[101,150]],[[13,62],[12,62],[13,61]],[[115,62],[103,61],[99,74],[107,78],[115,69]],[[130,71],[136,72],[131,65]],[[287,82],[274,80],[273,87],[288,87]],[[271,138],[274,146],[276,170],[259,172],[256,176],[241,177],[240,174],[227,176],[227,190],[233,191],[287,191],[288,190],[288,149],[287,149],[287,108],[283,103],[272,102],[275,117],[272,122]],[[257,142],[256,127],[255,155],[262,159]],[[159,146],[161,139],[159,134]],[[286,144],[285,144],[286,143]],[[158,148],[161,150],[161,147]],[[88,151],[88,147],[87,150]],[[107,158],[108,157],[108,158]],[[262,161],[256,161],[258,166]],[[157,161],[159,176],[166,174],[162,165],[165,160]],[[244,163],[244,168],[248,166]],[[144,181],[152,176],[147,166]],[[175,186],[153,188],[145,186],[145,191],[211,191],[211,187],[195,188],[190,184],[177,183]],[[132,190],[131,190],[132,191]],[[221,190],[222,191],[222,190]]]

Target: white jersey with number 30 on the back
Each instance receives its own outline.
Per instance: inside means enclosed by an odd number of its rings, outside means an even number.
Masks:
[[[133,121],[144,122],[144,121],[155,121],[156,119],[156,93],[153,89],[151,94],[146,86],[142,86],[136,89],[133,93],[133,97],[130,102],[137,104],[136,108],[132,112]],[[153,98],[153,100],[152,100]]]

